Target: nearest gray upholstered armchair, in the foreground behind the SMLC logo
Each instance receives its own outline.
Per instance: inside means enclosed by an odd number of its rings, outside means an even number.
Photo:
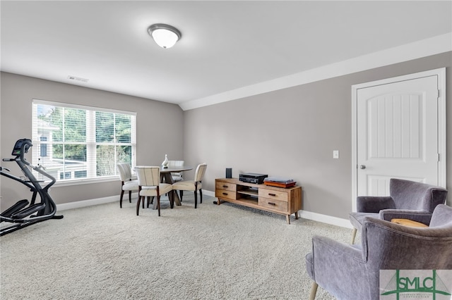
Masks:
[[[313,237],[306,264],[309,299],[318,285],[337,299],[380,299],[380,270],[452,270],[452,208],[436,206],[426,228],[366,217],[357,245]]]

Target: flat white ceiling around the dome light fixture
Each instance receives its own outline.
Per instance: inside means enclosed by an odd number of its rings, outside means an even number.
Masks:
[[[452,1],[1,1],[1,70],[182,105],[449,32]]]

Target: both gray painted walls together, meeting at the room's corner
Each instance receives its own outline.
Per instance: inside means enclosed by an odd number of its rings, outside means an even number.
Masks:
[[[30,137],[33,98],[137,111],[138,165],[160,164],[165,154],[170,159],[183,158],[189,165],[206,162],[206,191],[214,191],[215,178],[224,177],[229,167],[234,177],[244,172],[292,177],[303,188],[305,211],[348,218],[352,209],[351,86],[447,67],[447,99],[452,99],[451,66],[452,52],[448,52],[184,112],[174,104],[1,73],[0,156],[9,157],[16,139]],[[451,115],[448,105],[447,118]],[[449,187],[451,126],[448,123]],[[340,159],[333,159],[333,150],[340,151]],[[1,210],[30,198],[23,186],[1,180]],[[119,182],[115,181],[52,189],[58,204],[117,194]]]

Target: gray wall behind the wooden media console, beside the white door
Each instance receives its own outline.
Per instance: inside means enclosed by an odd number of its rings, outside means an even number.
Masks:
[[[292,177],[303,209],[348,218],[352,209],[351,86],[435,68],[446,69],[452,99],[452,52],[184,111],[184,158],[208,163],[203,189],[231,167],[239,173]],[[447,104],[447,118],[452,106]],[[448,123],[448,187],[452,180]],[[333,150],[340,159],[333,159]],[[449,200],[449,204],[450,204]]]

